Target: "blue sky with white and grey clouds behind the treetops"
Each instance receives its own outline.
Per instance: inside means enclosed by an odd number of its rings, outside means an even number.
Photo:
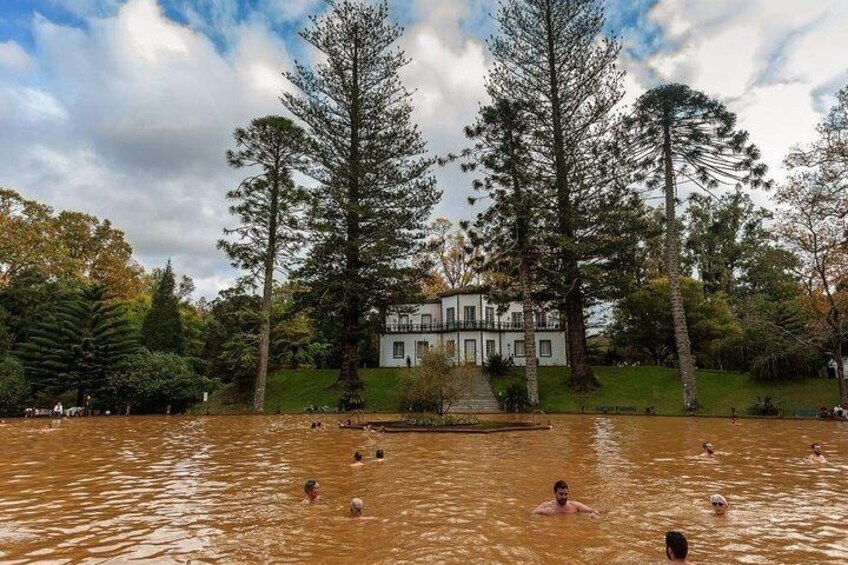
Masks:
[[[390,0],[404,73],[434,152],[462,146],[484,100],[497,0]],[[802,7],[801,7],[802,6]],[[111,219],[148,268],[172,258],[212,297],[234,278],[215,249],[239,174],[232,130],[281,113],[281,73],[322,0],[0,0],[0,186]],[[627,99],[664,81],[724,100],[780,178],[848,84],[848,1],[609,0]],[[469,181],[437,176],[460,219]],[[767,196],[760,197],[766,202]],[[2,234],[0,234],[2,237]]]

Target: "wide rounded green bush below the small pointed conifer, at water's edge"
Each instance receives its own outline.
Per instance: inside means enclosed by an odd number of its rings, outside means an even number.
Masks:
[[[194,372],[191,362],[173,353],[142,353],[131,357],[127,367],[109,377],[119,406],[129,404],[134,413],[182,412],[203,398],[213,382]]]

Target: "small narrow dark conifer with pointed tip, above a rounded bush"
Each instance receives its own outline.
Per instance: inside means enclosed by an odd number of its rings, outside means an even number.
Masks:
[[[141,343],[150,351],[185,352],[185,330],[171,261],[156,281],[153,302],[141,324]]]

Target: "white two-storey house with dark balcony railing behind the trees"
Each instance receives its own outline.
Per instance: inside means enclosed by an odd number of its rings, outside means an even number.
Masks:
[[[478,289],[457,289],[417,304],[399,305],[380,334],[380,366],[418,365],[421,353],[442,343],[458,361],[481,365],[499,353],[524,365],[524,312],[520,302],[499,311]],[[557,312],[536,311],[539,365],[565,365],[565,334]]]

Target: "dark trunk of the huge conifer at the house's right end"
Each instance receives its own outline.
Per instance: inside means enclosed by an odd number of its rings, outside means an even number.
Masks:
[[[559,69],[555,60],[555,41],[553,33],[553,14],[548,5],[545,11],[545,27],[547,35],[548,76],[550,85],[551,116],[553,130],[554,173],[557,197],[557,222],[560,234],[569,241],[574,240],[574,214],[571,193],[568,187],[568,172],[565,163],[565,138],[563,136],[562,102],[559,93]],[[580,289],[579,265],[577,257],[568,249],[561,250],[561,267],[563,286],[569,288],[566,293],[566,333],[568,343],[568,362],[571,365],[571,389],[586,391],[599,388],[601,383],[592,372],[589,364],[589,353],[586,347],[586,324],[583,320],[583,292]]]

